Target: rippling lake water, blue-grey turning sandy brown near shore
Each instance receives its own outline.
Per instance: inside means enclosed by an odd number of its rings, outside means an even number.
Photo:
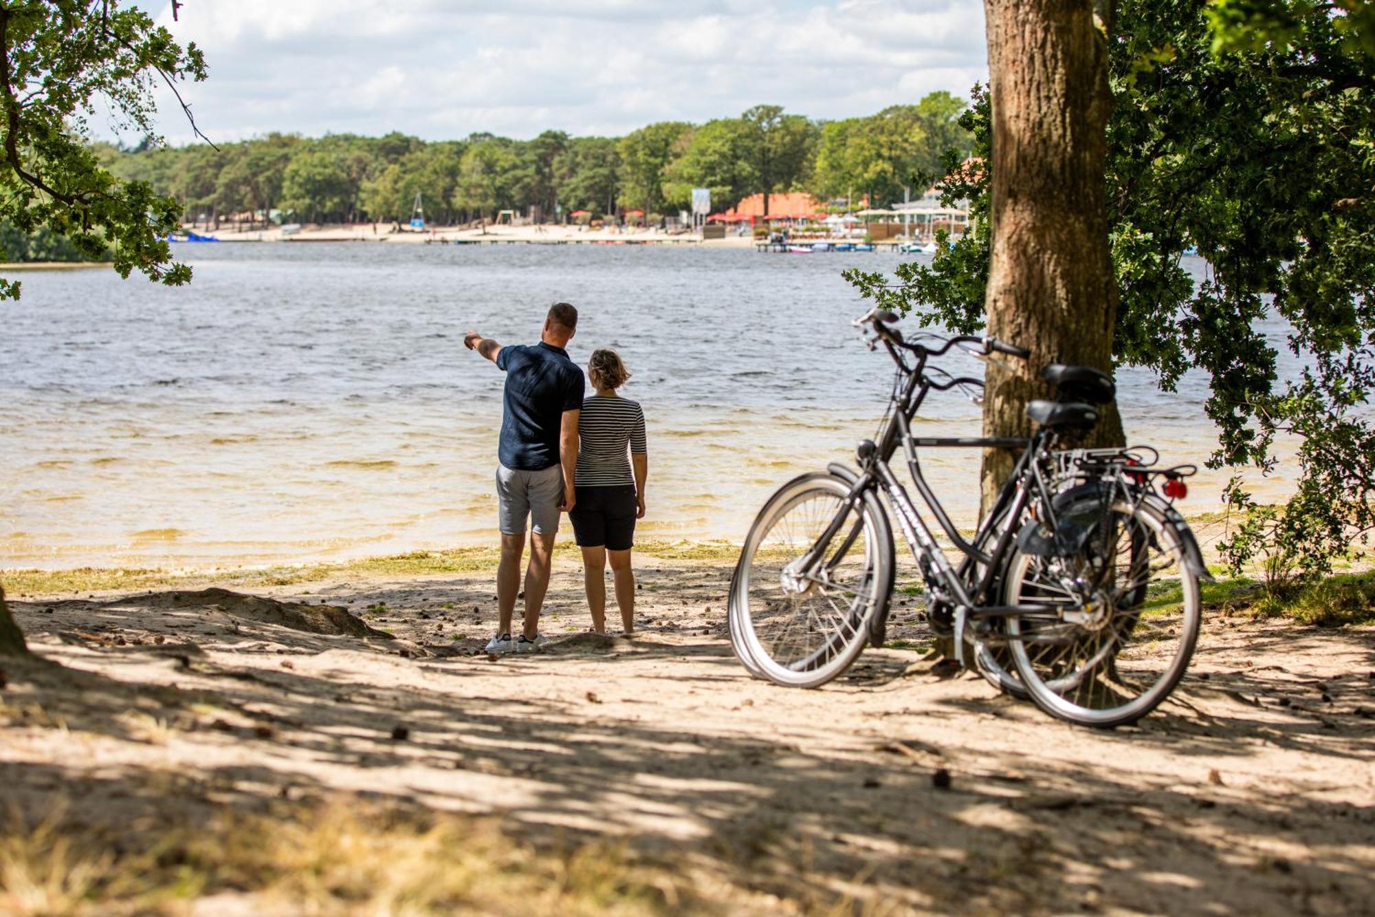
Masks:
[[[648,536],[738,538],[769,492],[846,460],[891,363],[848,322],[843,267],[898,256],[715,248],[206,245],[165,289],[110,271],[38,273],[0,304],[0,566],[197,566],[483,541],[502,373],[463,330],[532,343],[549,303],[569,351],[622,351],[650,436]],[[1272,329],[1276,343],[1280,329]],[[978,373],[956,358],[952,368]],[[1203,377],[1119,379],[1129,438],[1200,461]],[[978,409],[932,398],[931,430]],[[975,453],[928,470],[976,503]],[[1195,485],[1216,505],[1221,476]],[[1272,482],[1283,487],[1283,481]]]

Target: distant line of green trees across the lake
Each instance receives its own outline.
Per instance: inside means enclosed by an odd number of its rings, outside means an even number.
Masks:
[[[881,205],[901,201],[903,189],[920,194],[946,154],[968,153],[964,109],[962,99],[932,92],[842,121],[758,105],[734,118],[660,121],[623,138],[270,134],[220,149],[102,145],[96,153],[114,175],[180,201],[187,222],[268,211],[312,223],[404,222],[417,193],[426,219],[443,224],[491,220],[503,209],[542,220],[573,211],[674,213],[689,209],[694,187],[710,187],[718,211],[780,191]]]

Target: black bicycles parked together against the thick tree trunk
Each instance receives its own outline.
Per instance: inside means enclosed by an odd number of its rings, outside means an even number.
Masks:
[[[1089,726],[1134,721],[1182,677],[1200,621],[1198,542],[1173,501],[1196,468],[1158,467],[1155,450],[1062,449],[1099,420],[1112,380],[1086,366],[1048,366],[1057,401],[1033,401],[1028,438],[913,434],[932,391],[980,401],[983,381],[930,358],[961,348],[1027,359],[993,337],[920,333],[873,310],[855,325],[896,363],[877,441],[858,472],[832,464],[778,489],[745,538],[730,587],[732,646],[754,675],[818,687],[866,642],[881,646],[896,566],[884,498],[927,588],[927,620],[953,636],[960,664],[1053,716]],[[888,467],[902,447],[912,482],[939,525],[942,548]],[[921,474],[918,449],[1015,449],[1019,458],[972,538],[964,538]],[[947,558],[947,549],[950,558]],[[952,558],[954,563],[952,563]]]

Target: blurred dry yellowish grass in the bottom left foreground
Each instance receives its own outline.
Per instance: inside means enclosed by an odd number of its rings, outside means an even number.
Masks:
[[[242,913],[755,910],[745,892],[694,881],[682,865],[639,862],[619,843],[536,850],[491,818],[355,799],[226,814],[208,825],[114,841],[65,810],[38,823],[11,811],[0,829],[0,913],[179,914],[206,895],[241,898]],[[712,888],[720,895],[710,895]]]

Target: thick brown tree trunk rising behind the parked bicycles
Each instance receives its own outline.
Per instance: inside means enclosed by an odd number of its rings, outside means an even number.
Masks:
[[[1026,405],[1053,397],[1046,363],[1112,370],[1118,291],[1108,252],[1107,37],[1092,0],[984,0],[993,102],[989,333],[1031,358],[989,363],[986,436],[1027,435]],[[1121,445],[1107,406],[1093,445]],[[984,505],[1015,456],[987,450]]]

